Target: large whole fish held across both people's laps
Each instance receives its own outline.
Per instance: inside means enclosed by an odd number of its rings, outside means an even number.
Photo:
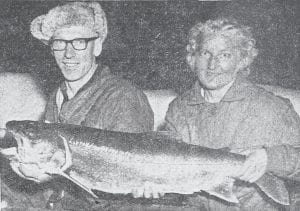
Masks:
[[[121,133],[67,124],[10,121],[16,148],[1,149],[23,176],[22,166],[59,174],[97,197],[95,190],[129,194],[145,186],[160,193],[205,191],[238,203],[232,192],[245,156],[172,140],[165,133]],[[63,153],[63,156],[56,156]],[[63,159],[61,159],[63,157]],[[65,173],[65,163],[72,163]],[[283,181],[265,174],[257,186],[275,202],[288,205]]]

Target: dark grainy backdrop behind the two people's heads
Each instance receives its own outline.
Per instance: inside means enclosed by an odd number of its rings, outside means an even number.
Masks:
[[[0,71],[30,72],[48,94],[62,79],[54,58],[30,34],[31,21],[63,1],[0,0]],[[99,60],[143,89],[183,92],[195,76],[185,64],[188,30],[197,22],[233,16],[253,28],[259,55],[250,79],[300,89],[299,3],[260,1],[100,2],[108,37]]]

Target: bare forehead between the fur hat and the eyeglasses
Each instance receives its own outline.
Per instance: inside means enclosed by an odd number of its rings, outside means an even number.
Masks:
[[[77,38],[90,38],[98,36],[92,29],[84,26],[69,26],[57,29],[53,34],[53,39],[73,40]]]

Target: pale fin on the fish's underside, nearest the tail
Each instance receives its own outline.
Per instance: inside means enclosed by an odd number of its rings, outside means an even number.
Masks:
[[[239,200],[233,193],[233,178],[225,178],[221,183],[218,183],[218,185],[213,186],[210,190],[205,190],[210,195],[217,196],[220,199],[223,199],[225,201],[231,202],[231,203],[239,203]]]

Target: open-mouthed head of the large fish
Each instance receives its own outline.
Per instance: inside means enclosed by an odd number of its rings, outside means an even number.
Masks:
[[[36,182],[48,181],[51,176],[47,172],[61,168],[66,162],[64,142],[47,124],[10,121],[6,130],[17,146],[0,152],[10,160],[12,169],[19,176]]]

